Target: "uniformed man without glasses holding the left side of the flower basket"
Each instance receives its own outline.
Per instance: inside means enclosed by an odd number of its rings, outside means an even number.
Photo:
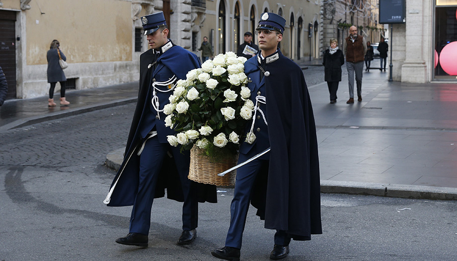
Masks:
[[[202,187],[202,194],[206,189],[209,193],[198,196],[200,185],[187,178],[189,152],[180,153],[167,142],[166,136],[174,131],[165,127],[163,106],[169,103],[175,82],[185,79],[200,62],[195,54],[167,38],[163,12],[143,16],[142,22],[151,49],[140,57],[140,90],[125,157],[104,202],[108,206],[133,205],[130,232],[116,242],[147,247],[152,201],[164,196],[166,188],[168,198],[184,202],[183,232],[177,243],[189,244],[197,235],[198,201],[215,202],[216,187]]]

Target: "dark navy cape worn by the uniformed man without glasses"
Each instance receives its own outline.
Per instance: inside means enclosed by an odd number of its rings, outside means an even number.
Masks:
[[[149,87],[152,84],[151,80],[153,75],[153,71],[148,68],[148,65],[152,64],[152,62],[156,60],[155,56],[156,55],[152,49],[146,51],[140,56],[140,90],[138,93],[138,102],[130,127],[129,137],[127,139],[124,160],[111,184],[111,187],[114,185],[119,175],[120,178],[113,194],[111,195],[110,202],[107,204],[108,206],[133,205],[135,195],[138,192],[140,156],[136,154],[138,149],[135,150],[135,148],[142,141],[138,127],[140,125],[143,109],[146,103],[151,102],[150,100],[146,101],[148,90],[150,89]],[[195,54],[180,46],[173,46],[159,56],[155,71],[160,70],[161,66],[166,66],[176,75],[178,79],[186,79],[187,72],[194,68],[199,68],[200,62]],[[198,183],[197,188],[199,202],[217,202],[216,186]],[[184,201],[181,182],[174,160],[173,158],[167,156],[165,156],[162,163],[154,197],[157,198],[165,196],[165,189],[167,189],[167,198],[179,202]]]

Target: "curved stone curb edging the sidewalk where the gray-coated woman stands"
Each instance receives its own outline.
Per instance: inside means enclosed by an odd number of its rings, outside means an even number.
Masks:
[[[16,128],[21,128],[21,127],[29,126],[32,124],[37,124],[37,123],[61,119],[61,118],[69,117],[69,116],[74,116],[74,115],[78,115],[78,114],[82,114],[82,113],[86,113],[86,112],[93,112],[93,111],[102,110],[102,109],[106,109],[106,108],[116,107],[119,105],[134,103],[134,102],[137,102],[137,99],[138,99],[138,97],[119,99],[119,100],[109,101],[109,102],[105,102],[105,103],[86,105],[86,106],[78,107],[75,109],[69,109],[66,111],[60,111],[60,112],[50,113],[50,114],[46,114],[46,115],[39,115],[39,116],[29,117],[29,118],[25,118],[25,119],[20,119],[20,120],[14,121],[12,123],[8,123],[6,125],[1,126],[0,132],[8,131],[11,129],[16,129]]]

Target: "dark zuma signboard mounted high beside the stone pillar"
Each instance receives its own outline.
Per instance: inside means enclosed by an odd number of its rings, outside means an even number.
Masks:
[[[405,0],[380,0],[379,23],[405,23],[406,1]]]

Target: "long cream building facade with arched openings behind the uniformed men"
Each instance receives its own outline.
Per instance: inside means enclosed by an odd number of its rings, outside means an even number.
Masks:
[[[138,80],[139,57],[149,48],[140,17],[156,11],[164,12],[173,42],[199,57],[203,36],[215,55],[236,52],[264,11],[287,20],[284,55],[307,61],[322,52],[318,0],[0,0],[0,66],[7,98],[47,94],[46,53],[54,39],[67,56],[68,88]]]

